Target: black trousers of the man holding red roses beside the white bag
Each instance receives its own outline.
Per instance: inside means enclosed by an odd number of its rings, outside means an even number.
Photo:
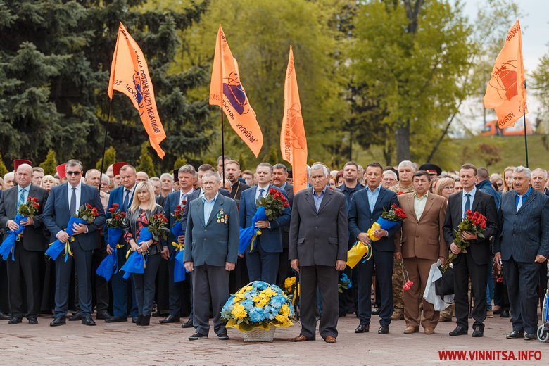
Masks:
[[[474,244],[472,244],[474,245]],[[488,283],[488,264],[477,265],[471,253],[460,253],[453,260],[454,267],[454,303],[457,325],[469,329],[469,277],[474,294],[473,329],[480,327],[484,331],[486,319],[486,286]]]

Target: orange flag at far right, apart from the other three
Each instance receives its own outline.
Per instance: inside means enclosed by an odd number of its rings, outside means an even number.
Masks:
[[[484,107],[494,108],[501,129],[515,125],[528,113],[522,63],[522,35],[519,20],[511,27],[505,45],[493,65],[491,79],[484,94]]]

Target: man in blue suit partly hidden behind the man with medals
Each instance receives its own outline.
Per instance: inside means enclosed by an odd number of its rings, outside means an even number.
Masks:
[[[183,208],[189,204],[189,196],[193,193],[193,179],[194,179],[194,167],[192,165],[183,165],[177,172],[177,180],[179,181],[179,191],[175,191],[166,197],[164,204],[164,212],[166,218],[168,218],[168,227],[172,227],[175,224],[175,217],[173,216],[177,205],[181,205]],[[183,230],[185,227],[183,227]],[[183,282],[174,282],[174,265],[175,260],[172,258],[176,255],[176,247],[173,243],[184,244],[185,236],[181,235],[177,238],[170,232],[168,236],[168,248],[170,249],[170,259],[168,260],[168,285],[170,294],[170,314],[163,320],[160,320],[161,324],[179,322],[179,313],[181,312],[181,299],[183,294]],[[185,281],[190,281],[185,278]]]

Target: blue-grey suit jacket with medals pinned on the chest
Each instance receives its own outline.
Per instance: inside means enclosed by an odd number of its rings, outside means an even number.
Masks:
[[[218,194],[207,222],[204,222],[204,202],[201,199],[190,201],[187,208],[184,262],[218,267],[225,267],[225,262],[236,263],[240,236],[236,202]],[[217,222],[221,210],[228,215],[229,222]]]

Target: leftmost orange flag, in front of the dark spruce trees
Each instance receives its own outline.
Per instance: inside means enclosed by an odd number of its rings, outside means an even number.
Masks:
[[[164,157],[164,151],[160,148],[160,142],[166,138],[164,127],[160,122],[160,116],[156,109],[153,83],[145,56],[130,33],[120,22],[116,48],[111,63],[111,78],[108,81],[108,96],[113,99],[113,90],[126,94],[139,111],[139,117],[147,134],[151,146],[160,158]]]

